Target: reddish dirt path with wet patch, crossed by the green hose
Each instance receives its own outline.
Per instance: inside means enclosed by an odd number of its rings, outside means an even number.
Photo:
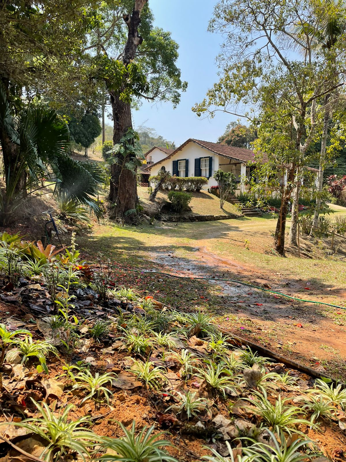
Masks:
[[[205,245],[194,251],[193,260],[162,249],[160,252],[153,250],[151,256],[172,274],[270,285],[274,291],[302,298],[303,281],[298,278],[286,280],[280,273],[259,273],[256,267],[213,254]],[[323,370],[325,366],[331,374],[346,374],[342,359],[346,357],[346,327],[339,325],[346,320],[346,310],[299,302],[234,282],[211,280],[210,283],[225,302],[215,310],[215,314],[221,316],[223,327],[316,369]],[[320,297],[314,296],[313,290],[305,292],[307,299],[318,300]],[[323,301],[328,298],[323,297]],[[334,294],[330,301],[332,299],[335,303]]]

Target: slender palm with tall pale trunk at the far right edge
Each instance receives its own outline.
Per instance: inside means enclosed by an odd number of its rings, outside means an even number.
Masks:
[[[318,57],[322,57],[326,63],[326,77],[334,80],[335,86],[338,83],[338,71],[336,60],[339,45],[345,37],[346,30],[346,6],[342,0],[313,0],[312,21],[308,23],[297,24],[293,30],[293,36],[296,38],[296,44],[304,54],[308,50]],[[318,218],[321,208],[321,196],[323,188],[323,171],[325,166],[326,146],[328,139],[328,125],[332,113],[333,93],[328,92],[323,97],[323,128],[321,151],[319,160],[319,172],[317,183],[316,207],[312,220],[310,235],[318,226]]]

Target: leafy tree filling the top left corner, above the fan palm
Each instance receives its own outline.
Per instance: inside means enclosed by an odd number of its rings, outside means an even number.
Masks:
[[[88,99],[93,85],[87,72],[89,57],[83,55],[81,45],[86,43],[86,34],[95,22],[96,4],[96,0],[1,1],[2,121],[9,120],[12,112],[24,115],[34,110],[39,100],[60,107],[66,103],[72,106],[81,100],[81,95]],[[27,174],[32,172],[22,168],[28,165],[24,162],[25,150],[18,147],[15,132],[3,123],[0,144],[6,188],[11,182],[16,197],[25,196]],[[73,165],[78,173],[80,166]]]

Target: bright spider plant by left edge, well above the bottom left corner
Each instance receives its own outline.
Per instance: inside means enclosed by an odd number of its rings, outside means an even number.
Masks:
[[[19,354],[22,355],[21,364],[25,364],[29,361],[30,358],[37,358],[40,361],[40,365],[37,366],[39,372],[45,371],[48,374],[48,367],[46,359],[49,354],[52,353],[55,356],[58,355],[58,350],[49,343],[47,340],[32,340],[31,336],[24,337],[23,340],[19,340],[15,348],[10,350],[6,358],[8,361],[13,361],[13,359]]]

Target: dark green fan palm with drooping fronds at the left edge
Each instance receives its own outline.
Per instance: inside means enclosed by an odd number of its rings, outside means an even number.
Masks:
[[[0,194],[0,222],[9,224],[27,196],[27,188],[46,177],[61,199],[98,212],[94,199],[100,175],[68,156],[69,129],[53,109],[32,104],[19,113],[0,84],[0,144],[6,188]]]

